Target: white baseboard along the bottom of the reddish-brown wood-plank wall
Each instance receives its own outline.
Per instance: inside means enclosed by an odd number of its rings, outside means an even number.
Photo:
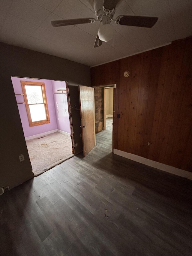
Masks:
[[[128,158],[128,159],[131,159],[133,161],[139,162],[141,164],[146,164],[148,166],[157,168],[159,170],[163,170],[163,171],[168,172],[168,173],[173,173],[175,175],[178,175],[178,176],[181,176],[181,177],[184,177],[184,178],[187,178],[187,179],[192,179],[192,173],[191,172],[188,172],[188,171],[185,171],[185,170],[182,170],[182,169],[179,169],[179,168],[167,165],[167,164],[161,164],[159,162],[144,158],[144,157],[139,156],[139,155],[134,155],[134,154],[131,154],[131,153],[127,153],[127,152],[121,151],[119,149],[113,149],[113,153],[116,154],[116,155],[123,156],[123,157]]]

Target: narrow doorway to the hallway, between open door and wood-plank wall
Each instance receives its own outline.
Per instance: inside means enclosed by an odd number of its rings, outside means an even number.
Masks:
[[[114,88],[113,85],[95,86],[95,132],[96,144],[106,143],[113,151],[113,113]],[[98,134],[99,133],[99,134]]]

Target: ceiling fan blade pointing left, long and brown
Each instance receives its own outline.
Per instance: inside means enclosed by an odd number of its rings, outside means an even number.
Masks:
[[[94,23],[94,22],[95,22],[94,18],[81,18],[81,19],[72,19],[72,20],[52,20],[51,25],[53,27],[61,27],[61,26]]]

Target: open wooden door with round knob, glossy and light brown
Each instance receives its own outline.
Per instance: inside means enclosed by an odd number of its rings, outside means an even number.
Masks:
[[[79,102],[83,155],[86,156],[96,144],[94,88],[79,85]]]

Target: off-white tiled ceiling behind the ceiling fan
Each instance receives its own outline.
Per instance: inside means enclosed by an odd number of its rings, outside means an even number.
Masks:
[[[52,27],[51,20],[95,18],[91,0],[1,0],[0,41],[88,66],[192,35],[191,0],[123,0],[120,14],[159,17],[151,29],[119,26],[112,40],[93,48],[99,22]]]

